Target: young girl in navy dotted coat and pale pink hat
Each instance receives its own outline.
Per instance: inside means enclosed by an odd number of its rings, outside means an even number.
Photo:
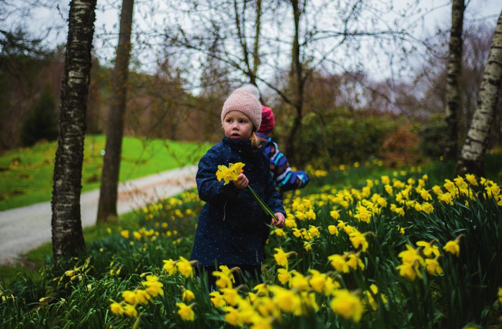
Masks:
[[[225,136],[199,161],[196,181],[199,197],[206,201],[195,233],[192,260],[199,261],[208,274],[209,289],[215,288],[212,271],[220,265],[239,267],[243,276],[261,281],[261,264],[268,224],[284,227],[286,212],[270,172],[269,158],[255,132],[262,121],[262,105],[252,94],[236,89],[226,99],[221,112]],[[227,185],[216,179],[218,165],[245,164],[237,180]],[[267,215],[248,189],[250,185],[275,213]]]

